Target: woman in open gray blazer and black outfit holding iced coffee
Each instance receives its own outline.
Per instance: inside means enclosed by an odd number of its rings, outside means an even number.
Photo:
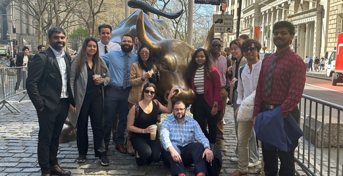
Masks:
[[[89,116],[93,131],[95,157],[99,157],[102,165],[109,165],[103,142],[102,115],[103,87],[110,81],[108,68],[99,56],[97,41],[93,37],[86,38],[80,54],[72,61],[70,79],[76,107],[70,109],[69,119],[77,129],[79,157],[76,160],[78,162],[85,161],[88,151]]]

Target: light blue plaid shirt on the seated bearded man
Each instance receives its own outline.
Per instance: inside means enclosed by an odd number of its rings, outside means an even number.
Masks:
[[[194,138],[200,142],[204,148],[209,147],[210,143],[202,133],[199,124],[194,119],[185,115],[185,121],[179,123],[174,115],[165,118],[161,125],[161,142],[163,148],[167,150],[172,146],[172,142],[179,146],[186,146],[194,142]]]

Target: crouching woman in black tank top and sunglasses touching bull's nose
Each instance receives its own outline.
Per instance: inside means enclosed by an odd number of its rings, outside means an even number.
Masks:
[[[135,149],[135,159],[138,166],[147,163],[158,162],[160,160],[161,144],[156,132],[155,140],[150,139],[150,133],[153,132],[151,125],[157,123],[158,112],[172,112],[172,97],[175,87],[170,90],[168,95],[168,104],[163,106],[160,102],[153,99],[156,94],[156,86],[152,83],[145,84],[141,101],[136,103],[129,111],[128,131],[132,132],[131,143]]]

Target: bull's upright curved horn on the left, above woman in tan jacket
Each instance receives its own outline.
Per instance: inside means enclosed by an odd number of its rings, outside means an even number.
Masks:
[[[138,18],[137,18],[136,33],[137,33],[137,37],[140,43],[145,44],[154,53],[157,53],[158,51],[157,43],[151,41],[145,33],[143,11],[139,13]]]

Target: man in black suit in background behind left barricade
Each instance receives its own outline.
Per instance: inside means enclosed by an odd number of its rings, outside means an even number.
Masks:
[[[29,47],[24,46],[22,49],[23,52],[17,54],[16,66],[17,67],[29,67],[30,62],[32,61],[32,55],[29,55]],[[25,90],[25,79],[26,79],[26,70],[18,69],[17,73],[17,84],[14,90],[19,89],[20,82],[23,80],[23,90]]]

